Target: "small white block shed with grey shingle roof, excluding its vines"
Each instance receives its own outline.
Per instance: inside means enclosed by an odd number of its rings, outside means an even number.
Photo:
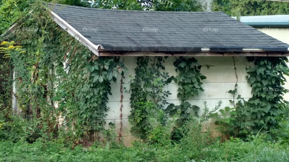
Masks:
[[[252,87],[247,83],[246,67],[254,66],[247,56],[277,57],[289,56],[289,45],[259,30],[240,22],[225,13],[217,12],[167,12],[98,9],[56,4],[51,10],[52,19],[70,35],[95,55],[120,56],[128,68],[123,79],[111,82],[106,116],[109,122],[116,124],[116,132],[124,137],[124,142],[134,139],[129,131],[131,111],[128,91],[130,77],[135,74],[139,57],[150,57],[153,61],[161,56],[166,61],[162,71],[169,76],[177,76],[174,62],[181,58],[194,57],[201,65],[203,92],[193,98],[186,98],[191,105],[204,107],[203,101],[213,109],[218,101],[222,108],[233,107],[230,100],[241,95],[252,97]],[[238,84],[237,94],[228,91]],[[181,103],[177,96],[179,85],[170,82],[164,87],[171,95],[166,98],[168,104]],[[236,100],[235,100],[236,102]],[[198,113],[201,114],[200,110]],[[214,130],[213,119],[204,125],[211,128],[211,135],[218,136]]]

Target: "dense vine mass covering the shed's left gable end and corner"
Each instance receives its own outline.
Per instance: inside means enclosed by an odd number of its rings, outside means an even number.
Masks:
[[[10,56],[22,115],[39,120],[39,129],[64,125],[76,138],[95,134],[104,129],[110,82],[126,69],[118,57],[97,57],[49,15],[35,5],[8,38],[26,51]]]

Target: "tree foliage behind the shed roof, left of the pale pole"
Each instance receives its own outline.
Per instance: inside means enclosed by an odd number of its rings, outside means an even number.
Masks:
[[[38,0],[3,0],[0,4],[0,34],[25,16]],[[81,7],[122,10],[201,11],[197,0],[42,0]]]

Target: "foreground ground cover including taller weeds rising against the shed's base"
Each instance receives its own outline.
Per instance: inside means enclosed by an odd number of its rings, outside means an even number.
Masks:
[[[289,147],[284,141],[288,126],[276,132],[277,141],[251,134],[246,141],[231,137],[220,143],[211,139],[208,132],[202,133],[202,125],[193,120],[182,128],[185,132],[179,142],[166,136],[169,129],[165,129],[161,132],[164,136],[158,136],[158,140],[139,140],[126,147],[111,137],[90,144],[75,143],[70,140],[70,134],[61,130],[51,140],[49,134],[31,130],[30,122],[0,117],[0,161],[289,161]],[[40,137],[33,142],[31,134]]]

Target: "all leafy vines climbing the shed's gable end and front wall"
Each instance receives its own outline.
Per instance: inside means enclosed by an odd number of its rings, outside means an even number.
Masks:
[[[0,86],[11,87],[12,82],[17,83],[16,97],[21,116],[36,123],[34,137],[41,130],[47,134],[55,133],[62,125],[69,128],[71,136],[76,138],[97,135],[97,132],[104,130],[104,119],[109,110],[106,104],[108,95],[112,95],[110,82],[116,82],[119,75],[123,77],[126,70],[124,64],[118,57],[97,57],[90,52],[57,26],[49,17],[49,10],[42,4],[36,4],[32,9],[33,12],[9,33],[7,39],[15,40],[15,46],[22,46],[25,52],[14,52],[5,59],[1,58],[8,64],[5,75],[11,78],[15,72],[15,79],[4,80],[9,83]],[[130,82],[131,131],[143,139],[157,141],[168,116],[174,115],[178,119],[172,138],[180,139],[184,133],[183,126],[191,121],[191,114],[197,116],[199,109],[188,100],[204,91],[201,85],[206,77],[200,73],[201,66],[195,58],[178,58],[174,62],[178,74],[172,77],[169,73],[161,72],[165,70],[162,64],[165,59],[138,57],[135,77]],[[253,97],[245,101],[238,96],[237,99],[241,101],[235,105],[235,113],[230,113],[233,118],[229,119],[235,134],[239,136],[276,128],[281,113],[279,109],[284,105],[282,96],[288,92],[282,87],[286,81],[284,75],[288,73],[287,58],[248,59],[256,65],[247,68]],[[171,93],[165,91],[165,86],[172,80],[179,86],[179,105],[166,101]],[[234,99],[236,87],[237,84],[230,91]],[[120,91],[122,93],[122,88]],[[7,103],[1,104],[8,106]],[[231,110],[227,107],[222,115],[226,116],[225,113]],[[227,121],[224,119],[221,122]]]

